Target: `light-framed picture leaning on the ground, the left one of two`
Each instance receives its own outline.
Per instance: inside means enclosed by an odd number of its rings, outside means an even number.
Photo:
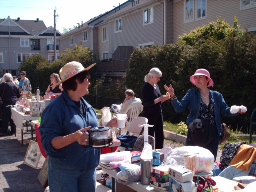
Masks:
[[[41,157],[41,152],[40,152],[38,143],[30,140],[30,143],[28,145],[28,150],[26,152],[26,155],[23,161],[24,164],[27,164],[30,167],[36,169],[38,166],[40,157]]]

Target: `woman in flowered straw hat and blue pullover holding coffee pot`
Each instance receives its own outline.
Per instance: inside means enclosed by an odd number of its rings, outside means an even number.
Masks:
[[[98,126],[95,110],[82,96],[88,94],[90,74],[73,61],[60,69],[62,94],[52,100],[42,112],[39,128],[42,146],[49,156],[48,183],[51,192],[94,192],[96,167],[100,149],[86,147],[89,135],[86,130]],[[117,127],[117,119],[106,124]]]

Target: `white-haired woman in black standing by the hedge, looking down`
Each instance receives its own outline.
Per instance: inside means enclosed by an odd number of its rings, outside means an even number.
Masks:
[[[148,119],[148,124],[154,125],[148,128],[148,134],[155,135],[156,149],[164,147],[164,129],[162,116],[162,102],[168,100],[166,95],[161,95],[158,81],[162,77],[162,72],[158,68],[152,68],[146,73],[145,84],[142,87],[142,114]]]

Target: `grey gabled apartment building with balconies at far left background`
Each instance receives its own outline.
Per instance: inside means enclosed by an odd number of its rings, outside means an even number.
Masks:
[[[56,31],[56,37],[61,33]],[[34,54],[48,61],[54,60],[54,28],[46,27],[42,20],[0,19],[0,72],[4,69],[19,76],[18,67]],[[59,56],[59,42],[56,42]]]

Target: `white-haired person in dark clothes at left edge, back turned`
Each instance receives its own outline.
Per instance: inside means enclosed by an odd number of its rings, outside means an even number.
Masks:
[[[0,136],[6,136],[8,131],[8,124],[10,122],[11,131],[8,134],[16,133],[16,125],[11,116],[11,108],[8,105],[15,105],[17,98],[20,98],[19,87],[12,81],[12,75],[6,73],[3,76],[3,83],[0,84],[0,96],[3,102],[2,108],[2,129]]]

